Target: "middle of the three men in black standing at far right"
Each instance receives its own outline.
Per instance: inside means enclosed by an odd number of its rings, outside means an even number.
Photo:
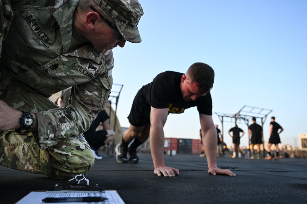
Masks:
[[[256,118],[252,118],[253,124],[248,128],[248,139],[251,141],[251,159],[254,157],[254,144],[257,144],[257,159],[260,159],[260,144],[262,144],[262,127],[256,123]],[[250,138],[251,136],[251,138]]]

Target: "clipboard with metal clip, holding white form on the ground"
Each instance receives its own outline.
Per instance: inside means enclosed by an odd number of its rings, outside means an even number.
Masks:
[[[74,178],[68,180],[66,186],[58,186],[48,191],[32,191],[25,197],[21,198],[16,204],[45,204],[45,198],[83,198],[83,197],[104,197],[107,200],[100,202],[56,202],[56,204],[125,204],[116,190],[105,190],[95,186],[89,186],[89,180],[84,175],[79,174]]]

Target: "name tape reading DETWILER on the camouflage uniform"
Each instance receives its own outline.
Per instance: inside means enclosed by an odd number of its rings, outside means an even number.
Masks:
[[[45,44],[46,47],[49,47],[52,44],[50,38],[45,34],[45,32],[41,29],[40,24],[37,22],[31,11],[28,11],[22,14],[23,17],[27,20],[32,30],[36,33],[37,37],[41,39],[41,41]]]

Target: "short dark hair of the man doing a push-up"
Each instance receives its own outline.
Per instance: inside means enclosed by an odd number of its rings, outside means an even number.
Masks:
[[[209,65],[196,62],[189,67],[187,73],[191,77],[192,82],[196,83],[200,92],[208,93],[212,89],[214,71]]]

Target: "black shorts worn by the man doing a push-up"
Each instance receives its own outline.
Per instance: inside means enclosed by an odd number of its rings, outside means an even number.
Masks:
[[[140,91],[134,97],[130,114],[127,117],[129,123],[135,127],[142,127],[150,124],[150,105],[146,99],[141,96]]]

